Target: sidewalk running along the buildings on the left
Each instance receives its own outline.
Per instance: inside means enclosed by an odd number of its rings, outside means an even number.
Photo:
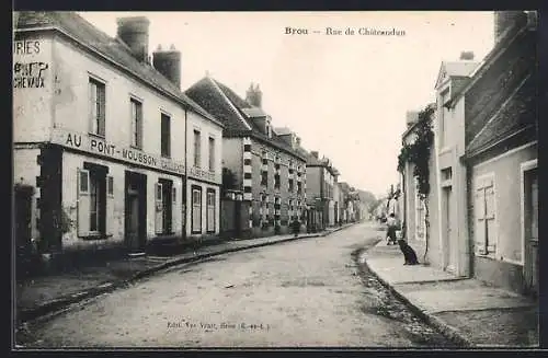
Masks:
[[[217,244],[190,249],[174,256],[127,257],[111,259],[102,264],[81,267],[66,273],[36,277],[16,285],[18,322],[25,322],[62,310],[65,307],[110,292],[138,278],[149,276],[163,268],[201,261],[207,257],[252,247],[307,238],[326,236],[352,226],[328,228],[320,233],[274,235],[259,239],[231,240]]]

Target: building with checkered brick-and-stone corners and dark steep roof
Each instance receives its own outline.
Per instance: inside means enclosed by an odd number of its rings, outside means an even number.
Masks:
[[[261,108],[259,85],[246,100],[209,76],[185,92],[225,125],[224,168],[233,175],[233,189],[243,192],[237,230],[243,236],[290,231],[304,222],[307,166],[299,153],[300,139],[287,128],[275,129]]]

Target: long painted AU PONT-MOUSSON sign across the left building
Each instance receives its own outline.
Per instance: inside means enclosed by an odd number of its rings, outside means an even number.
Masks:
[[[105,158],[122,160],[124,162],[140,164],[151,169],[163,170],[175,174],[184,174],[184,164],[178,161],[149,154],[134,148],[125,148],[101,138],[87,134],[79,134],[66,129],[54,128],[52,142],[68,148],[78,149],[88,153]]]

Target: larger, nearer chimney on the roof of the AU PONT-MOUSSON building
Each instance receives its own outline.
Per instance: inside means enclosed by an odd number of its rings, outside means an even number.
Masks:
[[[117,36],[141,62],[148,62],[148,25],[145,16],[119,18]]]

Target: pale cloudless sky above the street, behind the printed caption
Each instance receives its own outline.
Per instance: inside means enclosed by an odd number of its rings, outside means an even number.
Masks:
[[[492,12],[80,12],[116,35],[116,18],[150,20],[149,51],[182,53],[181,88],[206,72],[246,97],[263,92],[274,127],[331,159],[340,182],[385,195],[398,182],[406,112],[435,101],[443,60],[493,46]],[[307,34],[286,34],[286,27]],[[342,35],[327,34],[327,27]],[[350,28],[354,34],[345,35]],[[359,28],[399,35],[361,35]],[[318,32],[318,33],[316,33]]]

